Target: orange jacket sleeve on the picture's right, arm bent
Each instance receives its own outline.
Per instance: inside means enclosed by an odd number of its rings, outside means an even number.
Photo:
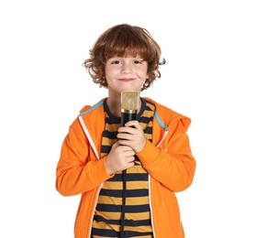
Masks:
[[[147,141],[138,157],[153,179],[172,191],[187,189],[194,178],[195,158],[192,156],[185,119],[168,126],[169,132],[160,146]]]

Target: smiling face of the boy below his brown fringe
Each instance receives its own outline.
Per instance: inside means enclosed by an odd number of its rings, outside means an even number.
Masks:
[[[109,92],[140,92],[147,78],[148,63],[140,58],[115,57],[107,59],[105,71]]]

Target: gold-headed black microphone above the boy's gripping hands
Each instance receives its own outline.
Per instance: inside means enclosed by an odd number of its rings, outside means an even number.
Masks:
[[[139,92],[121,92],[121,126],[125,126],[128,121],[136,120],[139,108]]]

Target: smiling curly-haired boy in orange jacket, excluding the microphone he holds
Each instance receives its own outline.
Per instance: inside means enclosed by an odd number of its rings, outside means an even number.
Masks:
[[[139,97],[136,120],[120,126],[122,92],[161,77],[161,49],[141,27],[110,27],[83,63],[108,96],[86,105],[61,147],[56,188],[81,195],[74,237],[182,238],[175,192],[194,178],[190,119]]]

